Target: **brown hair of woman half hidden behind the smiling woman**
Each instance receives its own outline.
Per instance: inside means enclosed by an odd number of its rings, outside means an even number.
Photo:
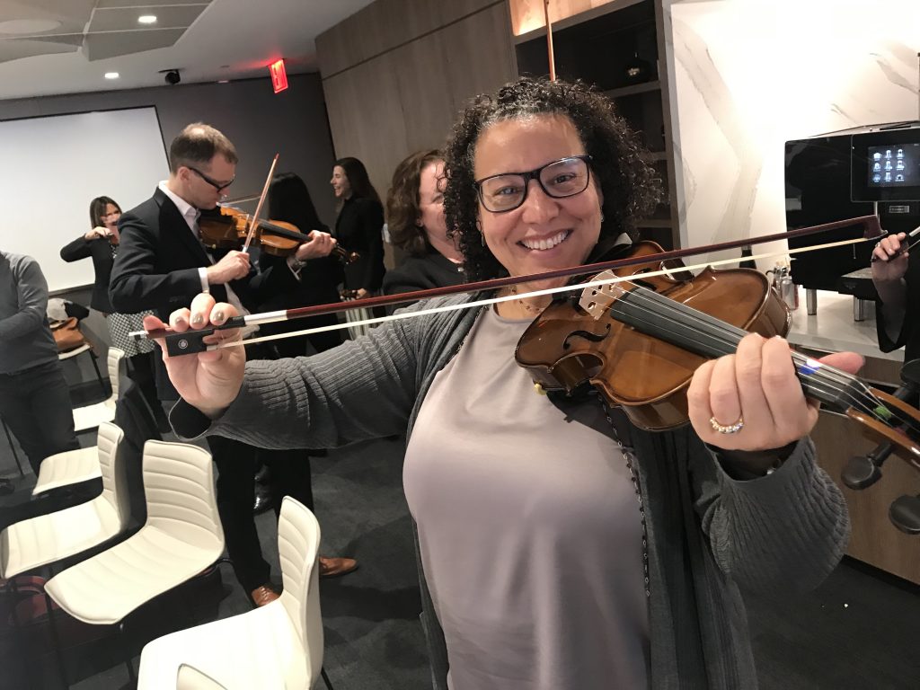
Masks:
[[[386,224],[390,238],[394,245],[405,249],[413,257],[423,257],[431,252],[425,228],[416,224],[421,213],[421,171],[443,159],[443,153],[437,149],[409,155],[394,170],[393,181],[386,192]]]

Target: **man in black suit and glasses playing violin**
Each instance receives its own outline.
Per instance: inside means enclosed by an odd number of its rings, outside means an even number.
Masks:
[[[209,255],[199,239],[198,219],[221,200],[236,176],[236,162],[234,145],[213,127],[199,122],[179,133],[169,148],[169,179],[159,183],[151,199],[121,216],[121,249],[109,284],[115,309],[153,309],[167,321],[172,311],[202,292],[237,308],[258,305],[271,294],[295,287],[305,259],[331,252],[335,240],[315,233],[295,256],[259,274],[251,269],[247,253]],[[165,407],[171,407],[178,394],[161,358],[156,385]],[[269,581],[270,567],[262,558],[252,514],[255,461],[262,454],[273,468],[282,469],[276,474],[283,475],[285,469],[296,472],[304,465],[305,453],[265,451],[220,437],[209,438],[208,444],[217,465],[217,504],[236,578],[254,604],[268,604],[278,594]]]

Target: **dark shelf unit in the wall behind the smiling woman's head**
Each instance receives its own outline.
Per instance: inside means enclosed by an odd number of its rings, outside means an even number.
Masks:
[[[680,247],[680,228],[672,202],[674,155],[661,17],[661,0],[617,0],[554,22],[553,47],[558,77],[600,89],[650,151],[665,201],[637,225],[644,239],[672,249]],[[513,42],[518,75],[548,74],[546,27]],[[639,81],[627,75],[637,59],[646,65]]]

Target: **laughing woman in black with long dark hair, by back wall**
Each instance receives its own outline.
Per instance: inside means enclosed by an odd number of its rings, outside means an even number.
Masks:
[[[339,158],[329,184],[339,200],[334,235],[361,257],[345,267],[345,289],[361,299],[379,291],[384,280],[384,207],[357,158]]]

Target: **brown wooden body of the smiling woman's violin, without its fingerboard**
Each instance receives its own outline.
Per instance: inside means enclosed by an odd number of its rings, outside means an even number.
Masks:
[[[639,242],[633,248],[634,256],[658,252],[661,247],[652,242]],[[673,276],[643,278],[643,273],[662,268],[668,267],[652,261],[613,274],[631,277],[627,292],[638,284],[766,338],[788,332],[788,309],[760,271],[706,269],[694,277],[674,268]],[[524,332],[515,359],[547,391],[572,393],[582,385],[593,385],[642,429],[661,431],[686,423],[687,385],[709,357],[617,320],[610,308],[615,301],[616,297],[607,300],[602,290],[589,288],[581,295],[581,304],[553,302]],[[665,310],[663,316],[650,318],[666,327],[669,316]]]

